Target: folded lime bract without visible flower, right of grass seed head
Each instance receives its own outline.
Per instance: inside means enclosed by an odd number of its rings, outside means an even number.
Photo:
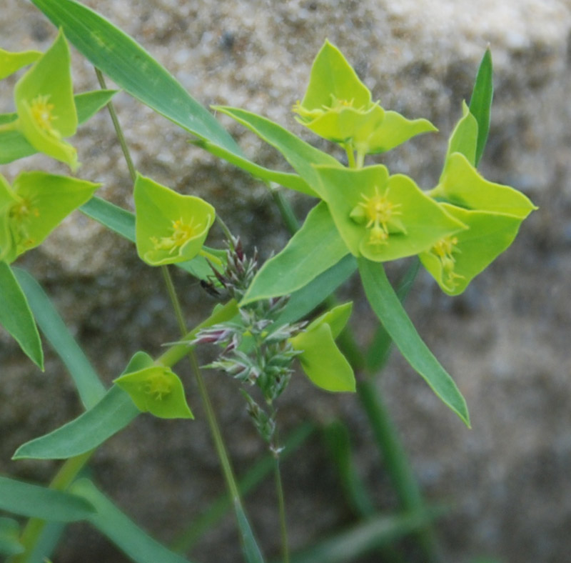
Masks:
[[[335,344],[352,307],[352,303],[334,307],[290,339],[293,348],[301,351],[299,361],[305,374],[326,391],[355,391],[353,368]]]

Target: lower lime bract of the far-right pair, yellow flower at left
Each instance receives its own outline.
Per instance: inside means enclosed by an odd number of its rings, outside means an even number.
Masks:
[[[440,239],[429,251],[418,256],[443,292],[458,295],[512,244],[522,219],[490,211],[470,211],[450,204],[442,206],[469,228]]]

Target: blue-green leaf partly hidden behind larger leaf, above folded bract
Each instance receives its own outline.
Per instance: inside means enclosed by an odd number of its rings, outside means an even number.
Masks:
[[[295,322],[305,317],[323,303],[344,281],[357,269],[355,257],[351,254],[345,256],[335,266],[319,274],[305,287],[293,292],[288,304],[276,319],[276,324]]]

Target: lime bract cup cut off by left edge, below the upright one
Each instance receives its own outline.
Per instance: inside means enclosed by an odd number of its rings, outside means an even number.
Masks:
[[[14,261],[84,204],[101,184],[44,172],[23,172],[14,186],[0,176],[0,260]]]

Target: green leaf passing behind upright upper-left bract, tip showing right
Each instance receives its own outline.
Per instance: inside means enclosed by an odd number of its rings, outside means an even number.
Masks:
[[[79,124],[87,121],[103,107],[116,93],[116,90],[95,90],[74,96]],[[18,114],[0,114],[0,124],[11,123],[18,119]],[[15,126],[15,124],[14,124]],[[0,127],[0,164],[7,164],[25,156],[36,154],[26,137],[18,129]]]

